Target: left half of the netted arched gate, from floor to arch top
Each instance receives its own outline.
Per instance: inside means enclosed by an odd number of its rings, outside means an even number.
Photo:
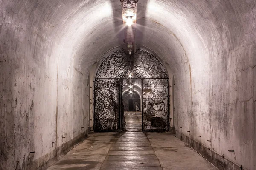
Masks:
[[[127,72],[125,51],[117,51],[99,67],[94,82],[94,130],[125,130],[122,77]]]

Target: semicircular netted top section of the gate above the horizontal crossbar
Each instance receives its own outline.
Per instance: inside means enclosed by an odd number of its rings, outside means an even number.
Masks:
[[[137,50],[134,56],[126,56],[124,50],[117,51],[106,58],[99,67],[96,79],[127,78],[168,78],[163,65],[152,54]]]

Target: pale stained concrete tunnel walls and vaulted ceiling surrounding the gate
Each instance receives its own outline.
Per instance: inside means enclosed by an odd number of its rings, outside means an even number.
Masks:
[[[169,131],[221,170],[256,170],[256,0],[139,0],[136,22],[136,48],[168,68]],[[97,68],[124,39],[120,0],[0,0],[0,170],[87,140]]]

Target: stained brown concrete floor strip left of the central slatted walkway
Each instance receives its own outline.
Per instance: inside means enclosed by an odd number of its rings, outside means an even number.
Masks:
[[[99,170],[116,133],[91,133],[47,170]]]

